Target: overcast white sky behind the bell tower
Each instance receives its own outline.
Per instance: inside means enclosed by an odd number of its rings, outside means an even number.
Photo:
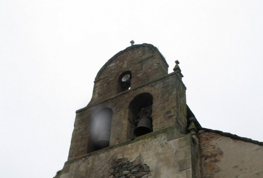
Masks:
[[[0,0],[0,178],[52,178],[99,69],[135,44],[180,61],[202,127],[263,141],[262,0]]]

